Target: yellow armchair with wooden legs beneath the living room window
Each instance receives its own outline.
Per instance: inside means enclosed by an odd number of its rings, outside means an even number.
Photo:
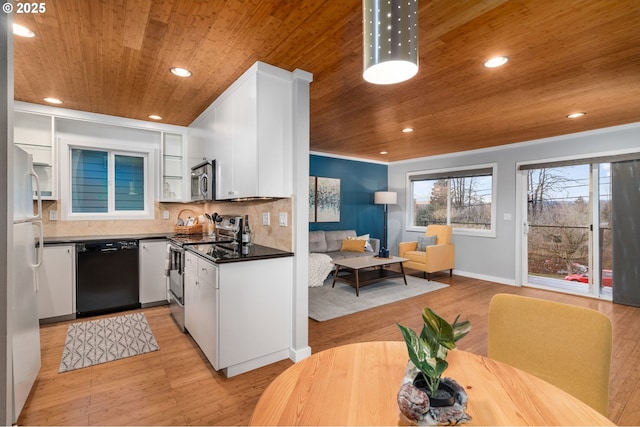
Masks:
[[[451,243],[452,228],[449,225],[429,225],[426,236],[436,236],[435,245],[427,246],[424,251],[418,251],[418,242],[400,242],[398,250],[401,258],[409,261],[403,263],[404,267],[420,270],[424,276],[431,280],[431,273],[449,270],[449,277],[455,267],[456,247]]]

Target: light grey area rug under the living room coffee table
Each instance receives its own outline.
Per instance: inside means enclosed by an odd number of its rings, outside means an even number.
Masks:
[[[356,290],[346,283],[336,282],[332,288],[333,276],[330,276],[323,286],[309,288],[309,317],[323,322],[449,286],[433,280],[406,277],[406,286],[401,277],[387,279],[360,288],[360,296],[357,297]]]

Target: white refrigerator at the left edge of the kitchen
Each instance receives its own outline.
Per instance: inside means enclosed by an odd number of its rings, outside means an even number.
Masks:
[[[13,277],[9,322],[13,374],[13,423],[29,396],[40,371],[40,327],[36,294],[37,269],[42,260],[42,202],[33,158],[13,149]],[[34,212],[33,186],[38,195]]]

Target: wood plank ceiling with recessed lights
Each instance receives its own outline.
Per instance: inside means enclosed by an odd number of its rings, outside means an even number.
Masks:
[[[638,0],[421,0],[420,70],[391,86],[362,79],[359,0],[46,8],[13,15],[36,34],[14,38],[16,100],[187,126],[260,60],[313,73],[312,151],[379,161],[640,121]],[[484,68],[494,55],[510,62]]]

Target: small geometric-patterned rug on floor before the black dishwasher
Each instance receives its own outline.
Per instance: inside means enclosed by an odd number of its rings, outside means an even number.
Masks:
[[[75,322],[67,329],[58,373],[156,351],[144,313]]]

